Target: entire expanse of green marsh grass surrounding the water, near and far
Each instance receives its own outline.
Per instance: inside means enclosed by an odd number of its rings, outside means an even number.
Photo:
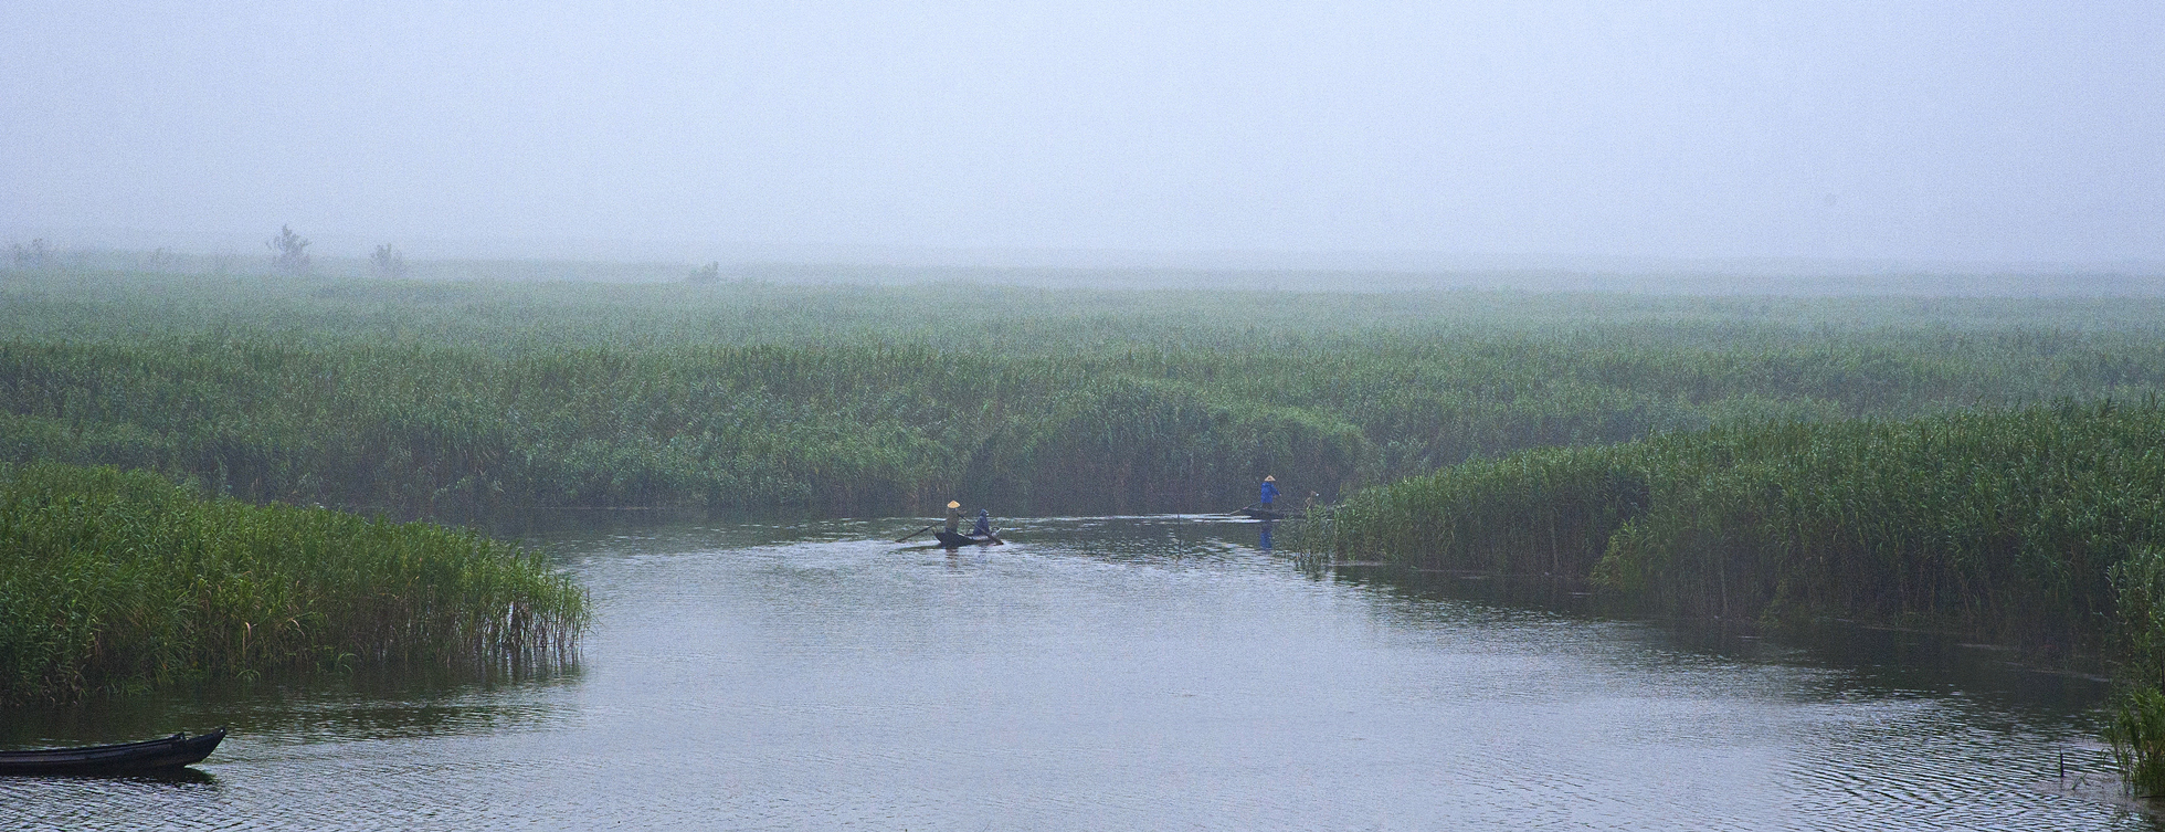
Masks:
[[[2109,650],[2137,691],[2115,748],[2154,780],[2161,323],[2165,301],[2126,297],[9,273],[0,464],[76,485],[11,496],[45,555],[0,572],[0,674],[24,698],[498,661],[582,620],[530,555],[275,503],[1223,511],[1277,474],[1351,494],[1303,533],[1357,559]],[[349,537],[370,546],[320,544]],[[310,542],[355,566],[271,552]],[[130,555],[152,550],[178,555]],[[414,570],[435,576],[388,578]]]

